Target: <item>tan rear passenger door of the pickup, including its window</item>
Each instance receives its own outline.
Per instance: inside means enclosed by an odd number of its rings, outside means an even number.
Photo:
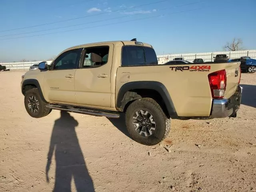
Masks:
[[[75,75],[76,104],[110,108],[113,50],[113,44],[97,44],[84,48],[81,64]]]

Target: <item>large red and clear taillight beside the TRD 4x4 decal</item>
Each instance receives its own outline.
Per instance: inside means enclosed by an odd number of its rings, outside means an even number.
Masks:
[[[223,98],[226,90],[227,76],[226,70],[220,70],[208,74],[212,98]]]

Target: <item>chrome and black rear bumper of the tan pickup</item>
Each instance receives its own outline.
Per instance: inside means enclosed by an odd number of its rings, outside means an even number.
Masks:
[[[242,87],[238,86],[235,94],[229,99],[214,99],[211,118],[236,116],[242,100]]]

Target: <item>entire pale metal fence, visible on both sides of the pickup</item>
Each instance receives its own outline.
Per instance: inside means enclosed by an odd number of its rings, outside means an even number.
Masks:
[[[166,54],[158,55],[158,64],[164,64],[176,57],[182,57],[184,60],[193,62],[196,58],[202,58],[204,62],[211,62],[214,60],[216,54],[226,54],[230,59],[240,58],[242,56],[249,56],[256,59],[256,50],[243,50],[243,51],[223,51],[223,52],[206,52],[206,53],[182,53],[182,54]],[[10,70],[29,70],[30,66],[38,64],[41,61],[35,62],[14,62],[14,63],[0,63]],[[50,64],[52,61],[47,61]]]

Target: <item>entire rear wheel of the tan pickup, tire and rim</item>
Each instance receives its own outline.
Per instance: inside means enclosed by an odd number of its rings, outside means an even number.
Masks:
[[[170,132],[170,118],[151,98],[130,104],[125,114],[126,127],[133,140],[144,145],[156,145]]]

